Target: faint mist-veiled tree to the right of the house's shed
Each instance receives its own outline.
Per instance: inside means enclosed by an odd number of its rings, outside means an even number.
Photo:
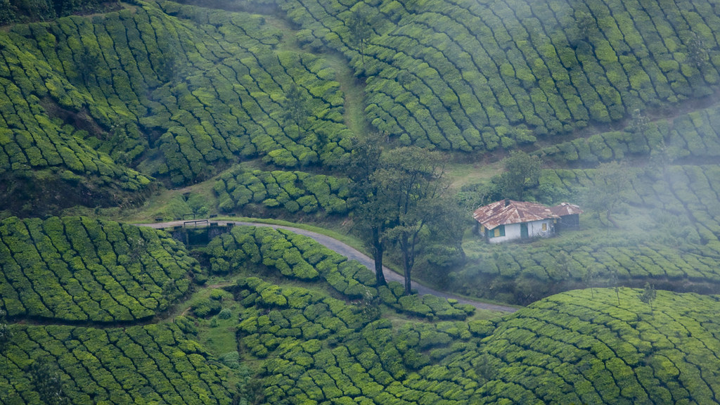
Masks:
[[[603,163],[595,169],[593,186],[585,195],[585,206],[598,215],[604,214],[609,223],[618,228],[612,215],[624,203],[630,188],[631,174],[624,164]]]

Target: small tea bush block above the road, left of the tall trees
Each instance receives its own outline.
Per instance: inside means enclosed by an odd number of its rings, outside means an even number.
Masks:
[[[306,172],[246,172],[236,169],[222,174],[215,183],[220,209],[243,210],[248,204],[283,208],[291,213],[328,214],[348,212],[346,178]]]

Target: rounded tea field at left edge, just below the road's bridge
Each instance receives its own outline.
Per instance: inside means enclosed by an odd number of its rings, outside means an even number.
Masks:
[[[85,217],[0,222],[0,303],[17,319],[148,319],[188,290],[196,266],[150,228]]]

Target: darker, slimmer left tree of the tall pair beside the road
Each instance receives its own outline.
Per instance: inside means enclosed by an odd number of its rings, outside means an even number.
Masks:
[[[382,273],[382,257],[386,241],[383,233],[390,223],[387,221],[385,205],[379,199],[378,184],[372,180],[372,174],[380,166],[382,135],[369,133],[362,138],[354,138],[352,143],[353,148],[346,167],[352,181],[348,203],[355,207],[355,228],[372,252],[377,285],[384,285],[386,281]]]

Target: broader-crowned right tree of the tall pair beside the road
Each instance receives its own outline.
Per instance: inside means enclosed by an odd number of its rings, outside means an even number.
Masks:
[[[410,272],[421,236],[428,226],[447,218],[445,159],[437,151],[416,146],[393,149],[380,157],[372,181],[377,184],[379,203],[386,215],[384,237],[400,249],[405,294],[410,294]]]

